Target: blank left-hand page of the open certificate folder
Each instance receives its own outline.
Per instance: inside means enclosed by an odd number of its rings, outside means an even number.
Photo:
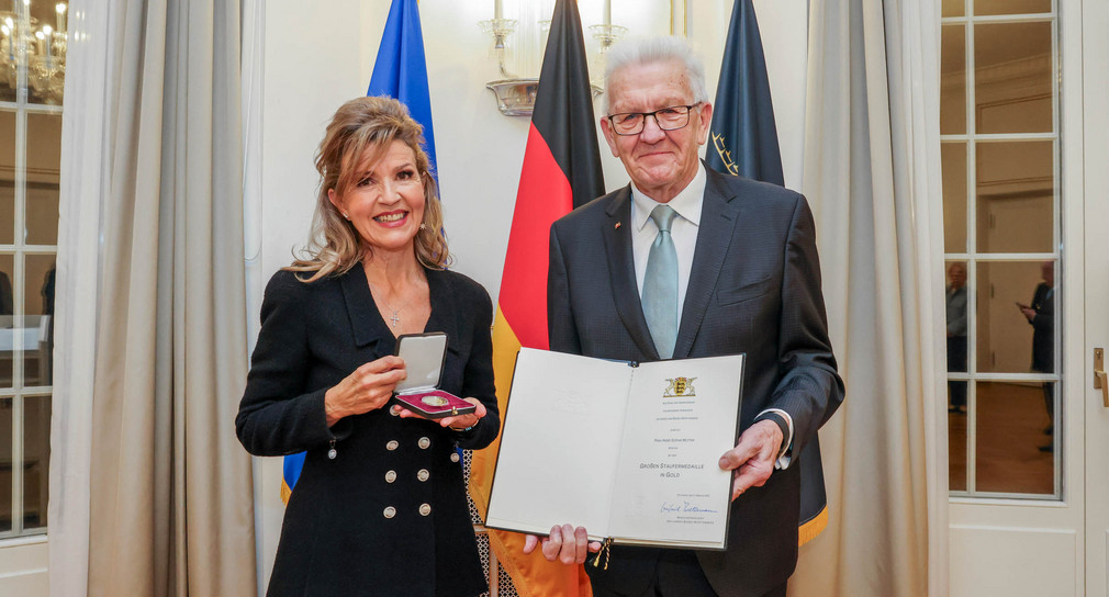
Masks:
[[[594,535],[608,528],[630,370],[625,362],[520,349],[489,526],[540,535],[566,523]]]

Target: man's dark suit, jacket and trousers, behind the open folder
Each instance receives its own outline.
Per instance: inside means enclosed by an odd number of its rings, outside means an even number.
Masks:
[[[804,197],[706,172],[674,358],[746,353],[740,429],[773,406],[791,414],[795,430],[791,466],[732,503],[728,550],[698,553],[716,593],[746,597],[780,586],[794,569],[805,465],[796,455],[816,442],[816,430],[843,401],[843,382],[827,337],[814,224]],[[551,350],[659,360],[635,281],[631,206],[631,188],[624,187],[551,226]],[[640,595],[659,553],[613,547],[607,570],[586,568],[594,586]]]

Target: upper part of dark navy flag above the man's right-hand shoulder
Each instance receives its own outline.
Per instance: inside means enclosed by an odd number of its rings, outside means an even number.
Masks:
[[[712,113],[709,167],[784,186],[766,58],[752,0],[735,0]]]

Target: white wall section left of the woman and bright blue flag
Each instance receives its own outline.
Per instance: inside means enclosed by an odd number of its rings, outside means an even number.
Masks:
[[[363,18],[358,0],[332,0],[328,11],[304,10],[289,0],[265,4],[264,89],[262,97],[262,246],[258,286],[248,302],[257,321],[263,286],[277,268],[288,265],[289,250],[307,237],[316,176],[313,152],[327,117],[344,101],[365,93],[362,81],[362,37],[383,24]],[[373,14],[366,9],[367,14]],[[342,18],[339,16],[355,16]],[[384,19],[379,17],[378,20]],[[366,32],[364,33],[364,30]],[[251,339],[252,344],[254,339]],[[277,550],[281,518],[281,459],[255,459],[255,519],[257,523],[260,595],[264,593]]]

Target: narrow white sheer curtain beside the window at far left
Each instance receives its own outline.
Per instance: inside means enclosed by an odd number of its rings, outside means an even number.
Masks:
[[[54,395],[50,429],[50,591],[85,595],[92,385],[100,280],[105,93],[111,35],[108,0],[72,0],[62,119]],[[64,570],[65,574],[55,574]]]

